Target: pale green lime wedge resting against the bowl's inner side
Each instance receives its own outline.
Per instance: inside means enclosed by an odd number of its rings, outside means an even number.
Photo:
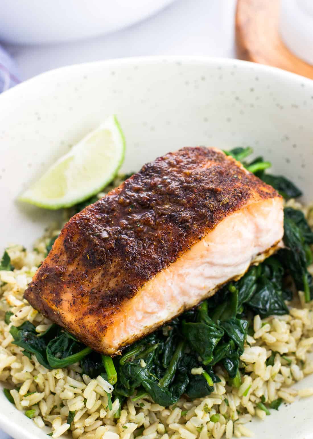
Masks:
[[[116,117],[110,116],[59,158],[18,200],[46,209],[71,207],[107,186],[124,154],[124,135]]]

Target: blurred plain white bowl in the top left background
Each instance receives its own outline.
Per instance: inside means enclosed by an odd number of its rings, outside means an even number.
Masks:
[[[174,0],[14,0],[2,7],[0,39],[58,43],[103,35],[138,22]]]

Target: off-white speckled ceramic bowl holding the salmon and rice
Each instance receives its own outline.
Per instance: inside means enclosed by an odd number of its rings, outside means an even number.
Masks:
[[[0,251],[29,246],[56,212],[14,200],[57,157],[115,113],[127,140],[124,170],[186,145],[251,145],[313,199],[313,81],[275,68],[214,58],[133,58],[60,68],[0,96]],[[313,377],[300,386],[313,386]],[[313,438],[313,399],[266,422],[257,439]],[[0,394],[0,426],[46,438]]]

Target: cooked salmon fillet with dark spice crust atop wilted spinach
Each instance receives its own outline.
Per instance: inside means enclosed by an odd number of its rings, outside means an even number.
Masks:
[[[239,279],[282,237],[272,187],[216,148],[183,148],[73,216],[25,298],[115,355]]]

